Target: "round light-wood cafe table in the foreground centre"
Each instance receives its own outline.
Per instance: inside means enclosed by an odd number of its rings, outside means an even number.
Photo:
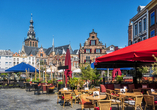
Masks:
[[[96,106],[97,106],[97,101],[98,101],[98,100],[105,99],[105,98],[106,98],[106,95],[87,96],[87,97],[86,97],[86,99],[91,100],[93,104],[95,103]]]

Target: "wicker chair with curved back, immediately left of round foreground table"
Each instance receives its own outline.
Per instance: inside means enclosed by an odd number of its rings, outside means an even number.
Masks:
[[[94,108],[95,105],[92,104],[91,101],[87,100],[86,97],[89,96],[88,94],[82,94],[80,96],[81,98],[81,110],[83,110],[84,108]]]

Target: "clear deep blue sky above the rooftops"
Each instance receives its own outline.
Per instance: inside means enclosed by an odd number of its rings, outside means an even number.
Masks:
[[[33,14],[38,47],[79,49],[92,29],[106,46],[128,45],[129,20],[151,0],[0,0],[0,50],[22,49]]]

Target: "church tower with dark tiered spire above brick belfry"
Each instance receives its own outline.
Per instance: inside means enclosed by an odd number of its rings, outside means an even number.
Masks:
[[[32,14],[31,14],[29,31],[27,33],[27,38],[24,40],[24,42],[26,46],[38,47],[38,39],[35,38]]]

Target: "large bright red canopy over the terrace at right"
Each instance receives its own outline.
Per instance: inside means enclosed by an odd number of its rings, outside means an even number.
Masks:
[[[96,58],[96,67],[133,67],[150,65],[157,56],[157,36]],[[101,66],[100,66],[101,65]],[[108,66],[107,66],[108,65]]]

